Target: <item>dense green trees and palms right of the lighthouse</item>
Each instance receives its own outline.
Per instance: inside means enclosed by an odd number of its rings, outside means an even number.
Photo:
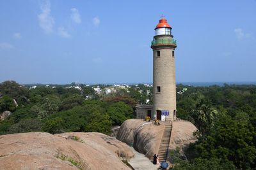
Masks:
[[[177,113],[199,129],[198,141],[175,157],[174,169],[256,169],[256,87],[184,87]],[[179,155],[179,154],[178,154]]]

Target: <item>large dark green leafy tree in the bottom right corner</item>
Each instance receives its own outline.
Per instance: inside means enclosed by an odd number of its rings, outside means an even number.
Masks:
[[[239,117],[240,115],[237,115]],[[195,154],[195,158],[229,160],[237,168],[255,168],[256,132],[250,122],[232,120],[225,113],[218,114],[215,127],[204,139],[191,145],[188,154]],[[189,153],[190,152],[190,153]]]

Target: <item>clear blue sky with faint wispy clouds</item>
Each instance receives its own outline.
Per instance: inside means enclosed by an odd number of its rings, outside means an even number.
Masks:
[[[256,81],[256,1],[0,2],[0,82],[152,82],[164,14],[176,80]]]

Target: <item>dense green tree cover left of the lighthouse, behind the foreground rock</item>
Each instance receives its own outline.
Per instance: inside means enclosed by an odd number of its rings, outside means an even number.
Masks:
[[[103,96],[95,93],[93,86],[80,87],[39,85],[29,89],[15,81],[0,83],[0,113],[12,112],[0,120],[0,134],[31,131],[110,134],[111,127],[134,117],[134,104],[141,99],[120,96],[120,92]],[[19,106],[15,106],[13,99]]]

